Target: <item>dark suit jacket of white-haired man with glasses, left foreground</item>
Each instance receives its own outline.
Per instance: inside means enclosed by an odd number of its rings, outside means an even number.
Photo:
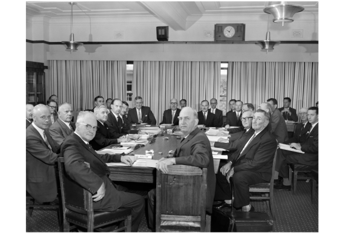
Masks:
[[[75,133],[64,140],[61,153],[67,174],[83,188],[94,195],[102,183],[105,184],[105,197],[94,202],[93,209],[114,211],[122,205],[119,191],[108,177],[110,170],[106,165],[110,162],[121,162],[120,154],[97,154]],[[90,168],[84,162],[89,163]]]

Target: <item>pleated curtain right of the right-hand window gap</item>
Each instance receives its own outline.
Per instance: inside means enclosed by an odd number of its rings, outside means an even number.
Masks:
[[[319,100],[318,62],[229,62],[228,101],[240,99],[257,108],[269,98],[283,106],[284,97],[291,107],[315,106]]]

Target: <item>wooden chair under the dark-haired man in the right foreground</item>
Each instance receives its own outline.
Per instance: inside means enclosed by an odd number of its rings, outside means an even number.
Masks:
[[[272,165],[272,177],[269,183],[259,183],[253,184],[249,186],[250,192],[262,192],[262,197],[250,197],[251,200],[266,200],[266,205],[268,210],[272,215],[272,219],[275,220],[275,213],[274,213],[274,196],[273,196],[273,185],[274,185],[274,171],[275,171],[275,160],[277,159],[277,150],[275,150],[274,158],[273,158],[273,165]],[[231,183],[232,185],[232,183]],[[233,190],[233,186],[232,186]],[[231,206],[231,210],[233,207]]]

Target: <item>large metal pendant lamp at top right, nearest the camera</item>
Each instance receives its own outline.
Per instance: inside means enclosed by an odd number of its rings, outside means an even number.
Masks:
[[[289,4],[286,1],[267,1],[263,11],[267,14],[273,15],[274,23],[291,23],[294,21],[293,15],[304,10],[304,7],[297,4]],[[267,3],[266,2],[266,3]],[[277,4],[275,4],[277,3]],[[265,4],[266,5],[266,4]]]

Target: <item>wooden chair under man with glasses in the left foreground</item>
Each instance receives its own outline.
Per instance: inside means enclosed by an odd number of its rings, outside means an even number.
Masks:
[[[88,163],[85,163],[90,167]],[[72,180],[66,173],[63,158],[58,158],[62,208],[63,232],[70,232],[70,223],[87,228],[93,232],[95,228],[102,231],[101,226],[123,221],[124,226],[112,232],[131,232],[131,209],[123,208],[116,211],[94,211],[91,193]]]

